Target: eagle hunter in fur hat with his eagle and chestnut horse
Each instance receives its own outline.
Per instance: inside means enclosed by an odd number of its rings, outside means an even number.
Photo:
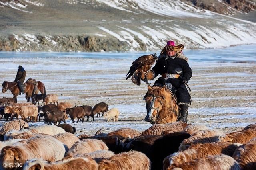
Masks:
[[[155,54],[146,55],[151,58],[142,56],[132,63],[126,80],[132,76],[134,84],[139,85],[140,80],[148,84],[144,97],[147,107],[145,121],[158,124],[187,122],[191,95],[186,86],[192,77],[192,70],[188,58],[182,53],[183,48],[182,44],[176,46],[174,41],[168,41],[157,59]],[[156,65],[149,71],[154,61],[157,61]],[[150,87],[148,80],[153,80],[159,74],[161,77]]]

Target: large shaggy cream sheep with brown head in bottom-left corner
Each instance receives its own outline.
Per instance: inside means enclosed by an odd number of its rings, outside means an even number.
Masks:
[[[0,166],[4,163],[22,163],[33,158],[55,162],[64,157],[65,148],[62,142],[54,137],[38,135],[30,139],[24,139],[11,146],[2,148],[0,154]]]

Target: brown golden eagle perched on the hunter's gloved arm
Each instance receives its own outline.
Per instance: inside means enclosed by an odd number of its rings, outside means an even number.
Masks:
[[[132,82],[140,86],[141,75],[143,72],[148,72],[152,65],[158,60],[156,54],[142,55],[132,62],[130,70],[126,74],[126,80],[132,76]],[[129,74],[129,75],[128,75]]]

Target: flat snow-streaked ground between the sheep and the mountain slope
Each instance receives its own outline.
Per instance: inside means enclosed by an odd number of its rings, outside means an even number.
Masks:
[[[254,44],[184,51],[190,58],[193,71],[189,82],[192,106],[188,123],[225,129],[245,127],[256,122],[255,49]],[[146,107],[142,98],[147,90],[146,84],[138,87],[125,77],[132,61],[144,54],[148,53],[1,52],[0,62],[4,64],[0,79],[13,81],[18,65],[22,65],[27,71],[26,79],[42,81],[46,93],[57,93],[59,102],[90,106],[106,102],[110,109],[116,107],[120,110],[116,123],[106,123],[102,117],[95,118],[94,122],[89,118],[90,122],[74,124],[69,119],[67,123],[74,125],[78,134],[92,135],[101,127],[104,127],[103,132],[122,127],[143,131],[151,126],[144,121]],[[249,63],[244,63],[245,60]],[[8,91],[2,96],[12,95]],[[24,95],[18,96],[18,102],[25,101]],[[0,121],[4,123],[3,119]]]

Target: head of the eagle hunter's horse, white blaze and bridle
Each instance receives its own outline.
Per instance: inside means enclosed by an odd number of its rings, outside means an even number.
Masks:
[[[164,104],[164,87],[151,88],[148,86],[147,96],[145,96],[147,115],[145,121],[154,122],[162,110]]]

